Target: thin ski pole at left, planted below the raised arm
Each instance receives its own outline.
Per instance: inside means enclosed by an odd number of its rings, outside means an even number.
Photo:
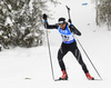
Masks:
[[[48,30],[47,29],[46,29],[46,33],[47,33],[47,42],[48,42],[48,49],[49,49],[52,79],[54,80],[54,72],[53,72],[53,65],[52,65],[52,58],[51,58],[50,42],[49,42],[49,36],[48,36]]]

